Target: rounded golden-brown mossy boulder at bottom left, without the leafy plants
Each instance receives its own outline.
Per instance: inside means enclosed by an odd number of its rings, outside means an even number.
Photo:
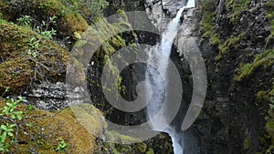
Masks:
[[[4,105],[5,99],[1,99],[0,107]],[[24,111],[24,116],[22,121],[17,121],[20,122],[17,142],[10,147],[10,151],[16,153],[94,153],[97,149],[96,137],[90,133],[89,128],[100,135],[106,127],[100,111],[89,104],[65,108],[55,113],[37,108],[30,110],[26,105],[19,105],[18,109]],[[75,112],[81,109],[89,110],[84,119],[75,116]],[[82,120],[87,121],[85,127],[79,122]],[[0,122],[10,121],[1,118]],[[60,142],[65,142],[67,146],[58,149]]]

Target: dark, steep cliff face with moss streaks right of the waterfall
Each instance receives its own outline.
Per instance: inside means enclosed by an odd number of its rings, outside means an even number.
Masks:
[[[273,11],[272,1],[198,3],[191,36],[200,35],[208,78],[194,126],[199,153],[273,151]]]

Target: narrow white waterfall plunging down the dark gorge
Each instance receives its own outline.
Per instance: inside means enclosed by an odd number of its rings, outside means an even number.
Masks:
[[[147,118],[149,119],[153,118],[153,116],[155,116],[155,114],[163,107],[165,94],[164,90],[167,84],[166,82],[168,82],[168,78],[165,72],[168,68],[168,59],[171,54],[174,37],[177,35],[180,25],[180,18],[184,9],[192,7],[195,7],[195,0],[188,0],[187,5],[183,6],[183,8],[178,11],[173,21],[168,24],[166,31],[163,33],[161,43],[153,46],[153,48],[147,51],[149,54],[149,67],[146,72],[146,82],[150,83],[153,90],[153,97],[150,104],[147,106]],[[158,66],[158,70],[150,66]],[[163,75],[159,75],[159,72],[162,72]],[[161,118],[161,122],[166,124],[167,121],[165,120],[165,115],[161,115]],[[184,149],[181,143],[181,139],[183,138],[182,132],[175,131],[173,126],[169,126],[164,130],[159,126],[163,125],[152,122],[151,127],[153,130],[164,131],[171,136],[174,146],[174,154],[183,154]]]

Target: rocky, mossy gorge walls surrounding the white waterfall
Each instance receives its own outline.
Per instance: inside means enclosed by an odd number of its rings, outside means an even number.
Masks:
[[[172,139],[164,132],[142,140],[111,131],[107,121],[136,126],[149,119],[147,108],[137,112],[113,108],[104,90],[129,101],[139,97],[136,87],[144,80],[146,67],[130,65],[119,72],[117,63],[109,62],[111,56],[126,46],[126,52],[138,53],[144,51],[141,44],[156,45],[161,40],[159,34],[187,1],[87,2],[0,1],[0,125],[15,124],[15,138],[4,139],[5,130],[0,129],[4,140],[0,151],[174,153]],[[145,16],[127,14],[129,11],[142,11]],[[23,20],[26,16],[31,19]],[[131,25],[134,21],[137,24]],[[144,25],[155,33],[135,30]],[[182,13],[173,43],[170,58],[184,89],[170,126],[179,132],[184,154],[273,153],[273,1],[195,1],[194,8]],[[109,67],[104,69],[106,64]],[[112,87],[101,82],[104,71],[107,80],[118,78]],[[195,102],[193,107],[201,111],[184,130],[195,79],[204,75],[205,101]],[[195,95],[204,96],[202,92]],[[5,113],[10,98],[16,100],[17,96],[27,100],[15,108],[24,111],[22,119],[11,117],[18,112]],[[86,96],[88,99],[83,99]],[[85,117],[77,113],[85,113]]]

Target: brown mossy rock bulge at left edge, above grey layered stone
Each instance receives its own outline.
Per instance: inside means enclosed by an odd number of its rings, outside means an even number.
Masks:
[[[68,52],[53,41],[4,20],[0,20],[0,40],[0,91],[10,87],[18,92],[30,82],[64,77]]]

